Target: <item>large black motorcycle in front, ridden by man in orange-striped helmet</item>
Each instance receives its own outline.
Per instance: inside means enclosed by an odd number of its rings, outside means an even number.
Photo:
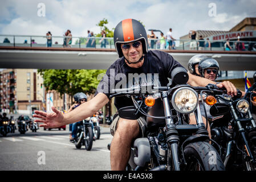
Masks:
[[[187,73],[178,68],[173,70],[173,88],[139,84],[112,90],[115,94],[110,98],[128,96],[133,101],[134,106],[119,109],[121,118],[145,117],[147,121],[147,137],[132,144],[127,170],[225,170],[216,148],[209,144],[197,90],[182,84],[186,78]],[[195,114],[196,125],[188,124],[190,113]]]

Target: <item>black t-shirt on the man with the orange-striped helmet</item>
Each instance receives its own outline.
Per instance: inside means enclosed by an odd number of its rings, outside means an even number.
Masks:
[[[104,93],[108,98],[114,88],[129,88],[132,85],[152,82],[155,86],[166,86],[169,83],[172,70],[182,67],[169,53],[148,51],[140,68],[131,68],[125,63],[124,57],[117,59],[107,70],[97,86],[97,93]],[[133,106],[131,98],[115,97],[117,109]]]

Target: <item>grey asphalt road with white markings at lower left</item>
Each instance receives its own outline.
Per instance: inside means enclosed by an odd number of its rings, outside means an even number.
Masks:
[[[68,125],[66,131],[40,128],[36,133],[29,130],[24,135],[15,130],[14,134],[0,137],[0,171],[110,170],[107,144],[111,140],[109,127],[101,126],[100,139],[87,151],[84,146],[76,149],[69,141]]]

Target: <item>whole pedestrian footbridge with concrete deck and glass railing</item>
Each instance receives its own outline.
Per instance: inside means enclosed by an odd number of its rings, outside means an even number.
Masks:
[[[46,47],[46,37],[0,35],[0,68],[107,69],[118,59],[113,38],[105,38],[107,40],[104,47],[100,44],[102,38],[91,38],[90,42],[89,38],[72,37],[71,47],[64,45],[63,38],[52,37],[51,47]],[[198,48],[190,50],[189,42],[184,40],[179,40],[178,44],[176,49],[161,51],[168,52],[185,68],[192,56],[205,54],[216,59],[223,71],[256,70],[254,49],[237,51],[233,46],[231,51],[225,51],[224,43],[216,42],[217,47],[200,51]],[[245,42],[246,50],[249,50],[251,44],[252,42]],[[157,40],[155,47],[149,49],[159,49]]]

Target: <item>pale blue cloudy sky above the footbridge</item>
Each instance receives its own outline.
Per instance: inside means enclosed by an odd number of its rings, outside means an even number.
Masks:
[[[51,31],[53,36],[62,36],[70,29],[73,36],[87,36],[87,30],[100,33],[96,24],[103,18],[108,28],[133,18],[143,22],[146,30],[155,28],[166,34],[172,27],[178,39],[189,30],[228,31],[242,19],[256,17],[255,7],[255,0],[8,0],[1,2],[0,34],[45,35]]]

